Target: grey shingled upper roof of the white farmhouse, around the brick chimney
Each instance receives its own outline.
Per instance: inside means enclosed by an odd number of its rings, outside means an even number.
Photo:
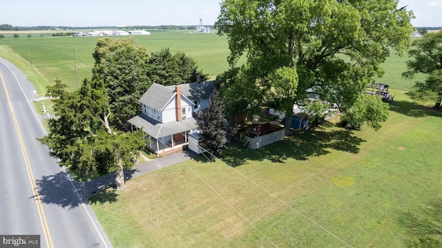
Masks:
[[[215,89],[215,81],[180,84],[180,89],[181,94],[192,102],[209,99]],[[161,111],[175,95],[175,86],[153,83],[138,102]]]

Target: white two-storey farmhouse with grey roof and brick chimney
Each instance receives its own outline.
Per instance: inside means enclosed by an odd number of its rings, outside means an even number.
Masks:
[[[214,88],[214,81],[176,86],[153,83],[138,100],[142,113],[128,122],[132,130],[142,128],[150,141],[148,149],[157,155],[182,149],[189,144],[188,134],[197,131],[194,116],[209,107]]]

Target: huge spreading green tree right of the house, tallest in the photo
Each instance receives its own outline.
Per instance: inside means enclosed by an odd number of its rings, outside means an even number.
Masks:
[[[229,39],[231,69],[219,77],[229,104],[273,104],[286,112],[307,91],[347,111],[379,66],[411,43],[412,12],[397,0],[225,0],[215,27]],[[247,63],[238,65],[240,57]],[[383,111],[384,108],[380,108]],[[378,120],[381,122],[381,120]]]

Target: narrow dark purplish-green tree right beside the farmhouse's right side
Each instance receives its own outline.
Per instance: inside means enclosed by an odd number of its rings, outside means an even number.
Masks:
[[[220,154],[227,143],[227,120],[224,113],[225,104],[218,97],[218,90],[213,90],[209,98],[209,108],[200,117],[201,146],[213,155]]]

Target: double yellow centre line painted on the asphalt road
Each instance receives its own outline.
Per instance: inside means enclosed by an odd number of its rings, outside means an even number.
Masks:
[[[12,102],[9,97],[8,88],[6,87],[5,79],[3,78],[3,75],[1,75],[1,73],[0,73],[0,79],[1,79],[1,82],[3,83],[3,88],[5,88],[6,99],[8,99],[8,105],[9,105],[9,108],[10,108],[10,111],[12,114],[12,120],[15,125],[15,130],[17,131],[17,136],[19,137],[19,142],[20,142],[20,146],[21,146],[21,153],[23,154],[23,158],[24,158],[25,164],[26,164],[26,170],[28,171],[28,178],[29,178],[30,185],[32,187],[32,193],[34,194],[35,204],[37,206],[37,211],[39,213],[40,224],[41,224],[41,228],[43,229],[44,238],[46,240],[46,244],[48,245],[48,247],[53,248],[54,244],[52,243],[52,237],[50,236],[48,222],[46,221],[46,216],[44,214],[43,205],[41,204],[41,198],[39,195],[39,191],[37,189],[37,184],[35,183],[34,174],[32,173],[32,168],[30,166],[28,153],[26,153],[26,148],[25,148],[25,144],[23,142],[23,138],[21,137],[19,124],[17,122],[17,118],[15,117],[14,108],[12,108]]]

